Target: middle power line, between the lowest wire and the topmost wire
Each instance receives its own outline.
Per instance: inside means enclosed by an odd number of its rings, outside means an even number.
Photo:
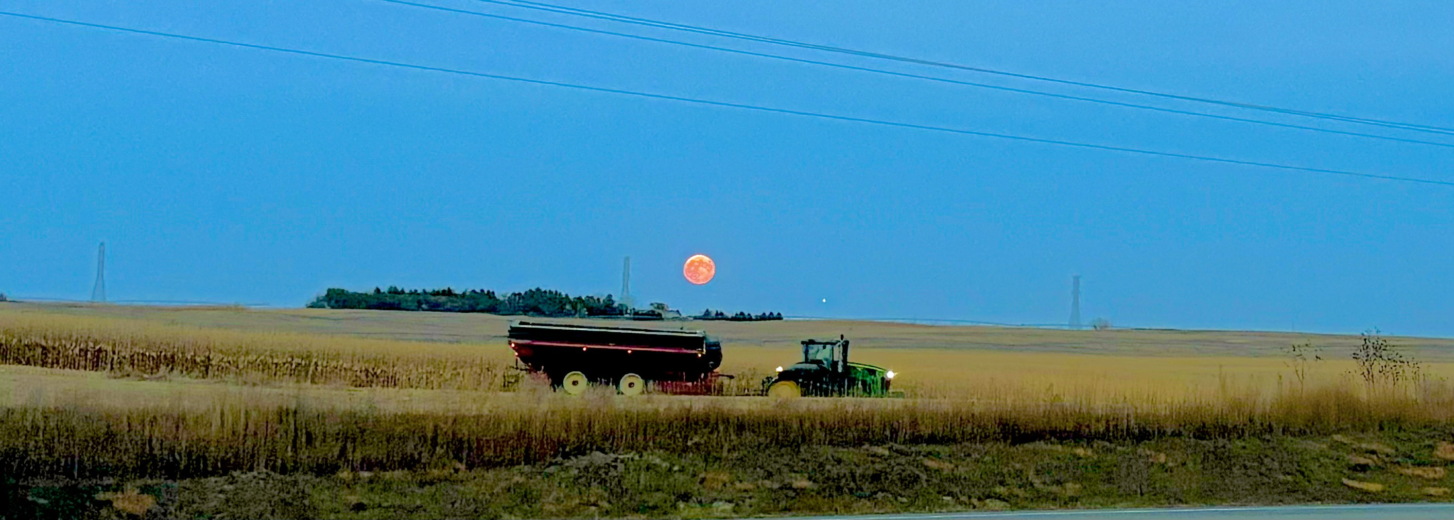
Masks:
[[[1066,100],[1076,100],[1076,102],[1088,102],[1088,103],[1101,103],[1101,105],[1111,105],[1111,106],[1121,106],[1121,107],[1133,107],[1133,109],[1141,109],[1141,110],[1156,110],[1156,112],[1188,115],[1188,116],[1198,116],[1198,118],[1236,121],[1236,122],[1255,123],[1255,125],[1281,126],[1281,128],[1293,128],[1293,129],[1303,129],[1303,131],[1313,131],[1313,132],[1352,135],[1352,137],[1364,137],[1364,138],[1373,138],[1373,139],[1386,139],[1386,141],[1397,141],[1397,142],[1409,142],[1409,144],[1425,144],[1425,145],[1434,145],[1434,147],[1454,148],[1454,144],[1450,144],[1450,142],[1421,141],[1421,139],[1409,139],[1409,138],[1377,135],[1377,134],[1349,132],[1349,131],[1338,131],[1338,129],[1329,129],[1329,128],[1293,125],[1293,123],[1280,123],[1280,122],[1274,122],[1274,121],[1234,118],[1234,116],[1224,116],[1224,115],[1195,112],[1195,110],[1168,109],[1168,107],[1150,106],[1150,105],[1112,102],[1112,100],[1105,100],[1105,99],[1083,97],[1083,96],[1070,96],[1070,94],[1060,94],[1060,93],[1051,93],[1051,92],[1043,92],[1043,90],[1015,89],[1015,87],[1005,87],[1005,86],[986,84],[986,83],[961,81],[961,80],[951,80],[951,78],[935,77],[935,76],[899,73],[899,71],[890,71],[890,70],[872,68],[872,67],[845,65],[845,64],[836,64],[836,62],[830,62],[830,61],[804,60],[804,58],[785,57],[785,55],[779,55],[779,54],[753,52],[753,51],[743,51],[743,49],[734,49],[734,48],[727,48],[727,46],[691,44],[691,42],[682,42],[682,41],[666,39],[666,38],[651,38],[651,36],[641,36],[641,35],[632,35],[632,33],[625,33],[625,32],[590,29],[590,28],[582,28],[582,26],[566,25],[566,23],[553,23],[553,22],[531,20],[531,19],[523,19],[523,17],[513,17],[513,16],[494,15],[494,13],[481,13],[481,12],[465,10],[465,9],[452,9],[452,7],[432,6],[432,4],[414,3],[414,1],[406,1],[406,0],[378,0],[378,1],[387,1],[387,3],[394,3],[394,4],[413,6],[413,7],[423,7],[423,9],[433,9],[433,10],[451,12],[451,13],[459,13],[459,15],[483,16],[483,17],[491,17],[491,19],[500,19],[500,20],[509,20],[509,22],[534,23],[534,25],[541,25],[541,26],[550,26],[550,28],[558,28],[558,29],[569,29],[569,31],[580,31],[580,32],[589,32],[589,33],[598,33],[598,35],[611,35],[611,36],[641,39],[641,41],[648,41],[648,42],[660,42],[660,44],[682,45],[682,46],[691,46],[691,48],[699,48],[699,49],[711,49],[711,51],[743,54],[743,55],[760,57],[760,58],[772,58],[772,60],[782,60],[782,61],[813,64],[813,65],[823,65],[823,67],[835,67],[835,68],[845,68],[845,70],[874,73],[874,74],[887,74],[887,76],[897,76],[897,77],[907,77],[907,78],[917,78],[917,80],[928,80],[928,81],[960,84],[960,86],[968,86],[968,87],[977,87],[977,89],[992,89],[992,90],[1021,93],[1021,94],[1045,96],[1045,97],[1054,97],[1054,99],[1066,99]]]

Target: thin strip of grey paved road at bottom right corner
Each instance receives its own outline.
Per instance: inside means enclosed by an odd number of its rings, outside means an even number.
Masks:
[[[926,514],[871,514],[811,517],[801,520],[971,520],[971,519],[1021,519],[1021,520],[1242,520],[1242,519],[1333,519],[1333,520],[1418,520],[1454,519],[1454,504],[1354,504],[1354,505],[1269,505],[1269,507],[1179,507],[1140,510],[1054,510],[1054,511],[1003,511],[1003,513],[926,513]]]

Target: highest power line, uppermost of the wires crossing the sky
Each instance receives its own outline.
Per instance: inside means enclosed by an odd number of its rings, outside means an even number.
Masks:
[[[1406,122],[1384,121],[1384,119],[1371,119],[1371,118],[1355,118],[1355,116],[1343,116],[1343,115],[1326,113],[1326,112],[1296,110],[1296,109],[1284,109],[1284,107],[1268,106],[1268,105],[1253,105],[1253,103],[1230,102],[1230,100],[1220,100],[1220,99],[1211,99],[1211,97],[1197,97],[1197,96],[1172,94],[1172,93],[1163,93],[1163,92],[1156,92],[1156,90],[1127,89],[1127,87],[1117,87],[1117,86],[1101,84],[1101,83],[1063,80],[1063,78],[1056,78],[1056,77],[1048,77],[1048,76],[1034,76],[1034,74],[1011,73],[1011,71],[1003,71],[1003,70],[960,65],[960,64],[944,62],[944,61],[912,58],[912,57],[900,57],[900,55],[893,55],[893,54],[881,54],[881,52],[869,52],[869,51],[858,51],[858,49],[842,48],[842,46],[807,44],[807,42],[800,42],[800,41],[792,41],[792,39],[771,38],[771,36],[758,36],[758,35],[742,33],[742,32],[721,31],[721,29],[712,29],[712,28],[704,28],[704,26],[694,26],[694,25],[685,25],[685,23],[662,22],[662,20],[653,20],[653,19],[646,19],[646,17],[624,16],[624,15],[615,15],[615,13],[606,13],[606,12],[598,12],[598,10],[587,10],[587,9],[555,6],[555,4],[539,3],[539,1],[528,1],[528,0],[475,0],[475,1],[493,3],[493,4],[502,4],[502,6],[513,6],[513,7],[523,7],[523,9],[535,9],[535,10],[544,10],[544,12],[561,13],[561,15],[585,16],[585,17],[593,17],[593,19],[602,19],[602,20],[612,20],[612,22],[622,22],[622,23],[635,23],[635,25],[653,26],[653,28],[660,28],[660,29],[694,32],[694,33],[701,33],[701,35],[712,35],[712,36],[723,36],[723,38],[746,39],[746,41],[755,41],[755,42],[762,42],[762,44],[797,46],[797,48],[806,48],[806,49],[814,49],[814,51],[826,51],[826,52],[851,54],[851,55],[858,55],[858,57],[865,57],[865,58],[878,58],[878,60],[910,62],[910,64],[917,64],[917,65],[944,67],[944,68],[954,68],[954,70],[963,70],[963,71],[971,71],[971,73],[1006,76],[1006,77],[1015,77],[1015,78],[1022,78],[1022,80],[1060,83],[1060,84],[1069,84],[1069,86],[1076,86],[1076,87],[1112,90],[1112,92],[1131,93],[1131,94],[1143,94],[1143,96],[1156,96],[1156,97],[1175,99],[1175,100],[1184,100],[1184,102],[1221,105],[1221,106],[1232,106],[1232,107],[1250,109],[1250,110],[1264,110],[1264,112],[1296,115],[1296,116],[1304,116],[1304,118],[1332,119],[1332,121],[1342,121],[1342,122],[1349,122],[1349,123],[1362,123],[1362,125],[1374,125],[1374,126],[1384,126],[1384,128],[1397,128],[1397,129],[1407,129],[1407,131],[1418,131],[1418,132],[1432,132],[1432,134],[1454,135],[1454,128],[1445,128],[1445,126],[1406,123]]]

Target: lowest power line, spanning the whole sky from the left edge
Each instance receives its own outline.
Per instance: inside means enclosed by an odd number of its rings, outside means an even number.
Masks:
[[[656,94],[656,93],[644,93],[644,92],[634,92],[634,90],[609,89],[609,87],[593,87],[593,86],[585,86],[585,84],[548,81],[548,80],[535,80],[535,78],[502,76],[502,74],[489,74],[489,73],[475,73],[475,71],[465,71],[465,70],[445,68],[445,67],[416,65],[416,64],[407,64],[407,62],[398,62],[398,61],[385,61],[385,60],[374,60],[374,58],[359,58],[359,57],[349,57],[349,55],[342,55],[342,54],[301,51],[301,49],[291,49],[291,48],[282,48],[282,46],[270,46],[270,45],[243,44],[243,42],[233,42],[233,41],[225,41],[225,39],[176,35],[176,33],[157,32],[157,31],[145,31],[145,29],[131,29],[131,28],[121,28],[121,26],[112,26],[112,25],[100,25],[100,23],[90,23],[90,22],[76,22],[76,20],[65,20],[65,19],[45,17],[45,16],[35,16],[35,15],[22,15],[22,13],[10,13],[10,12],[0,12],[0,15],[3,15],[3,16],[13,16],[13,17],[23,17],[23,19],[32,19],[32,20],[44,20],[44,22],[54,22],[54,23],[76,25],[76,26],[84,26],[84,28],[93,28],[93,29],[109,29],[109,31],[131,32],[131,33],[140,33],[140,35],[151,35],[151,36],[176,38],[176,39],[196,41],[196,42],[208,42],[208,44],[241,46],[241,48],[250,48],[250,49],[288,52],[288,54],[298,54],[298,55],[317,57],[317,58],[333,58],[333,60],[345,60],[345,61],[355,61],[355,62],[377,64],[377,65],[390,65],[390,67],[425,70],[425,71],[435,71],[435,73],[448,73],[448,74],[459,74],[459,76],[486,77],[486,78],[494,78],[494,80],[519,81],[519,83],[531,83],[531,84],[544,84],[544,86],[577,89],[577,90],[589,90],[589,92],[603,92],[603,93],[622,94],[622,96],[634,96],[634,97],[664,99],[664,100],[683,102],[683,103],[695,103],[695,105],[708,105],[708,106],[724,106],[724,107],[734,107],[734,109],[744,109],[744,110],[756,110],[756,112],[788,113],[788,115],[820,118],[820,119],[832,119],[832,121],[849,121],[849,122],[883,125],[883,126],[913,128],[913,129],[923,129],[923,131],[933,131],[933,132],[979,135],[979,137],[992,137],[992,138],[1012,139],[1012,141],[1022,141],[1022,142],[1041,142],[1041,144],[1054,144],[1054,145],[1076,147],[1076,148],[1089,148],[1089,150],[1121,151],[1121,153],[1141,154],[1141,155],[1175,157],[1175,158],[1186,158],[1186,160],[1210,161],[1210,163],[1242,164],[1242,166],[1261,166],[1261,167],[1280,168],[1280,170],[1326,173],[1326,174],[1336,174],[1336,176],[1351,176],[1351,177],[1364,177],[1364,179],[1383,179],[1383,180],[1396,180],[1396,182],[1409,182],[1409,183],[1422,183],[1422,184],[1454,186],[1454,182],[1447,182],[1447,180],[1386,176],[1386,174],[1359,173],[1359,171],[1346,171],[1346,170],[1313,168],[1313,167],[1277,164],[1277,163],[1246,161],[1246,160],[1237,160],[1237,158],[1178,154],[1178,153],[1168,153],[1168,151],[1127,148],[1127,147],[1112,147],[1112,145],[1101,145],[1101,144],[1089,144],[1089,142],[1075,142],[1075,141],[1060,141],[1060,139],[1044,139],[1044,138],[1032,138],[1032,137],[1012,135],[1012,134],[995,134],[995,132],[981,132],[981,131],[960,129],[960,128],[917,125],[917,123],[906,123],[906,122],[897,122],[897,121],[855,118],[855,116],[843,116],[843,115],[833,115],[833,113],[779,109],[779,107],[771,107],[771,106],[758,106],[758,105],[744,105],[744,103],[731,103],[731,102],[715,102],[715,100],[707,100],[707,99],[694,99],[694,97],[680,97],[680,96],[669,96],[669,94]]]

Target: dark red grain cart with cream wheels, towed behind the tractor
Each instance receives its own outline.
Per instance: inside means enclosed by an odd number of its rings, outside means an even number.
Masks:
[[[647,386],[710,394],[724,376],[717,373],[721,341],[695,330],[516,321],[507,337],[523,370],[550,378],[553,388],[571,395],[590,385],[615,386],[625,395]]]

